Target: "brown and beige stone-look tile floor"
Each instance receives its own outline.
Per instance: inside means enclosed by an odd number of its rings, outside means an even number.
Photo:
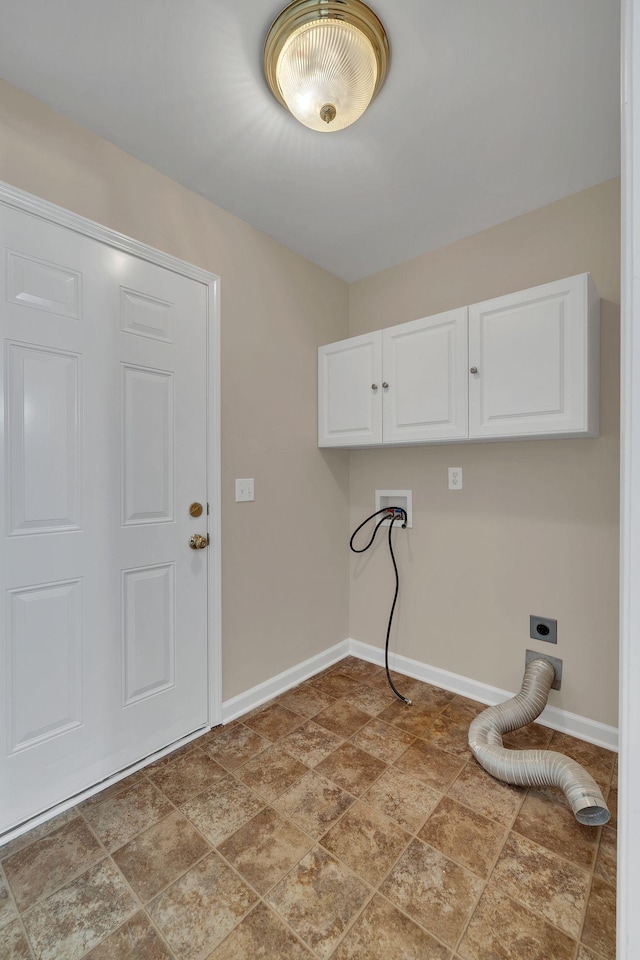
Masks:
[[[615,816],[493,780],[482,705],[394,681],[348,657],[0,847],[2,960],[613,960]],[[615,804],[609,751],[505,741]]]

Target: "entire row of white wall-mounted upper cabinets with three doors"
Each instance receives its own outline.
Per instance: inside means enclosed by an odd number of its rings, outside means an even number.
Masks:
[[[598,435],[589,274],[320,347],[321,447]]]

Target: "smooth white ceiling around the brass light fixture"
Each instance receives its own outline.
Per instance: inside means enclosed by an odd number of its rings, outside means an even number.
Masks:
[[[0,74],[352,281],[616,176],[619,0],[372,0],[345,131],[270,94],[278,0],[0,0]]]

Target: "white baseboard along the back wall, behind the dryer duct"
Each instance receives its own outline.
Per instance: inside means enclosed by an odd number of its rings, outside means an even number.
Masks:
[[[361,643],[359,640],[349,640],[349,653],[361,660],[368,660],[370,663],[384,665],[384,650],[379,647],[372,647],[368,643]],[[470,677],[463,677],[458,673],[451,673],[449,670],[442,670],[440,667],[431,667],[427,663],[419,660],[412,660],[410,657],[403,657],[397,653],[389,654],[389,666],[398,673],[403,673],[407,677],[413,677],[416,680],[423,680],[425,683],[431,683],[436,687],[442,687],[443,690],[450,690],[452,693],[459,693],[471,700],[479,700],[480,703],[486,703],[493,706],[513,697],[514,692],[501,690],[499,687],[492,687],[488,683],[481,683],[479,680],[472,680]],[[599,747],[606,747],[607,750],[618,749],[618,729],[609,727],[606,723],[600,723],[598,720],[590,720],[588,717],[581,717],[576,713],[569,713],[568,710],[561,710],[559,707],[546,706],[540,716],[538,723],[545,727],[551,727],[553,730],[559,730],[561,733],[568,733],[572,737],[578,737],[580,740],[586,740],[588,743],[595,743]]]

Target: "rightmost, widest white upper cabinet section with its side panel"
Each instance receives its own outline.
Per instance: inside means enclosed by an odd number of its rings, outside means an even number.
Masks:
[[[588,274],[469,307],[469,437],[595,436],[597,293]]]

